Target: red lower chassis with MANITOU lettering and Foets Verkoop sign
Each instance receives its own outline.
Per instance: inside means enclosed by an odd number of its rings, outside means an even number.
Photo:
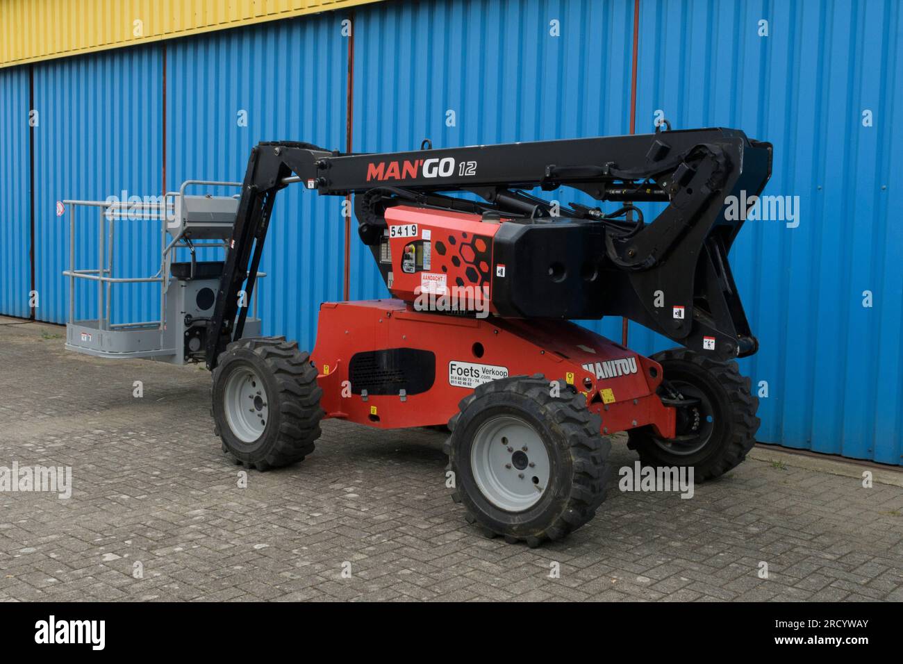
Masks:
[[[393,349],[434,358],[433,369],[429,361],[410,366],[427,374],[422,390],[362,394],[362,374],[349,371],[355,356]],[[651,425],[657,435],[675,435],[675,408],[656,395],[661,366],[568,321],[464,318],[417,312],[401,300],[325,303],[312,360],[326,416],[368,426],[444,425],[480,383],[542,374],[582,392],[602,418],[601,434]],[[404,358],[396,370],[407,370]]]

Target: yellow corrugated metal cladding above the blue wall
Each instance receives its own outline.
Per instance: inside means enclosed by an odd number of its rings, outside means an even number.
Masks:
[[[319,14],[381,0],[5,0],[0,68]]]

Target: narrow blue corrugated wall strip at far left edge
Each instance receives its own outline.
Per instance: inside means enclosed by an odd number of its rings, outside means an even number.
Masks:
[[[0,70],[0,313],[30,315],[28,67]]]

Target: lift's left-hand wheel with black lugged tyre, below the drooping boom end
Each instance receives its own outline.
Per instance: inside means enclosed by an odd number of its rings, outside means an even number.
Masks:
[[[320,437],[321,388],[310,355],[284,337],[230,343],[213,370],[214,433],[259,471],[302,461]]]

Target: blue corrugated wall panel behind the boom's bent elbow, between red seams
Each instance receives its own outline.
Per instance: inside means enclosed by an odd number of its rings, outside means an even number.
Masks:
[[[324,14],[171,42],[167,51],[166,185],[241,182],[262,140],[345,145],[348,41],[342,14]],[[238,126],[247,111],[247,126]],[[236,193],[224,190],[220,193]],[[279,194],[259,284],[265,332],[313,346],[321,302],[341,299],[341,200],[288,187]]]

